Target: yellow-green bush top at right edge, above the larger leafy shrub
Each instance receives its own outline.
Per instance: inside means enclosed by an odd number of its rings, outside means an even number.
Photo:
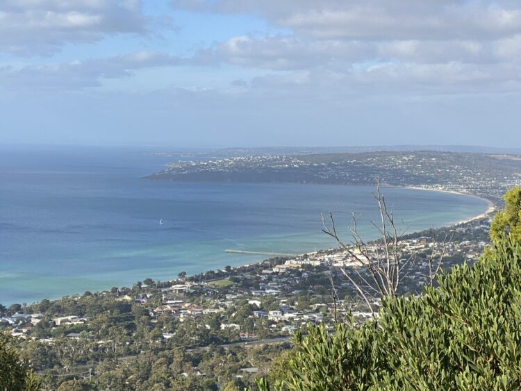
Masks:
[[[503,197],[504,210],[498,212],[490,225],[490,239],[499,243],[504,236],[521,243],[521,188],[515,186]]]

